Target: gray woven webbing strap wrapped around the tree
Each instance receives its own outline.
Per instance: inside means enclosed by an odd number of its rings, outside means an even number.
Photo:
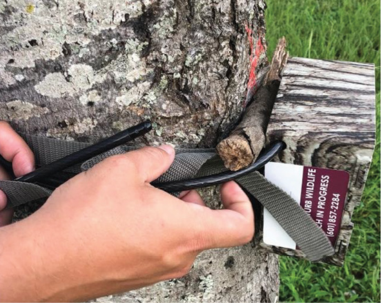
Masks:
[[[61,157],[74,153],[90,144],[23,135],[35,153],[36,165],[43,166]],[[87,170],[110,155],[126,153],[132,146],[120,146],[94,157],[81,166],[68,169],[72,173]],[[210,175],[226,170],[214,149],[182,149],[176,151],[175,161],[169,170],[158,179],[170,182],[191,177]],[[311,261],[333,255],[334,249],[324,232],[313,219],[282,189],[268,182],[260,173],[251,173],[236,180],[251,193],[284,228]],[[36,199],[47,198],[51,190],[36,184],[0,181],[0,189],[8,196],[7,208],[18,206]]]

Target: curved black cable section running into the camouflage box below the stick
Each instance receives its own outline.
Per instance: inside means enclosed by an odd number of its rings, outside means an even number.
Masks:
[[[280,153],[282,150],[286,148],[286,144],[282,141],[275,141],[268,148],[262,151],[260,153],[259,157],[257,158],[257,161],[255,161],[251,166],[248,166],[246,168],[242,168],[237,171],[231,171],[227,170],[223,173],[217,173],[215,175],[209,175],[205,177],[198,177],[195,179],[186,179],[186,180],[180,180],[176,182],[163,182],[163,183],[151,183],[153,186],[160,188],[162,190],[165,190],[167,193],[175,193],[182,190],[190,190],[195,188],[202,188],[202,187],[208,187],[213,186],[217,184],[222,184],[234,179],[237,179],[239,177],[242,177],[244,175],[247,175],[248,173],[253,173],[255,170],[259,170],[262,168],[266,163],[270,162],[275,155]]]

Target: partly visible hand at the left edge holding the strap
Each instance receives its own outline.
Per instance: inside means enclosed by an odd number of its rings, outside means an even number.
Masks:
[[[6,121],[0,121],[0,155],[9,162],[16,177],[26,175],[35,169],[35,157],[29,146],[10,127]],[[6,170],[0,166],[0,180],[9,180]],[[7,196],[0,190],[0,227],[10,224],[13,209],[7,206]]]

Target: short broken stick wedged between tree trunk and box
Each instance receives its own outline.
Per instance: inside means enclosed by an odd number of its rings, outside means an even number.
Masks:
[[[217,145],[217,153],[224,160],[226,168],[230,170],[244,168],[260,154],[266,141],[268,120],[287,57],[286,39],[283,37],[277,44],[271,67],[264,76],[264,83],[253,95],[242,121],[229,137]]]

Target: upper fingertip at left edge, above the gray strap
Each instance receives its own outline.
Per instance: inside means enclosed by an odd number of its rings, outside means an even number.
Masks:
[[[35,168],[35,157],[25,141],[5,121],[0,121],[0,155],[9,162],[16,177]]]

